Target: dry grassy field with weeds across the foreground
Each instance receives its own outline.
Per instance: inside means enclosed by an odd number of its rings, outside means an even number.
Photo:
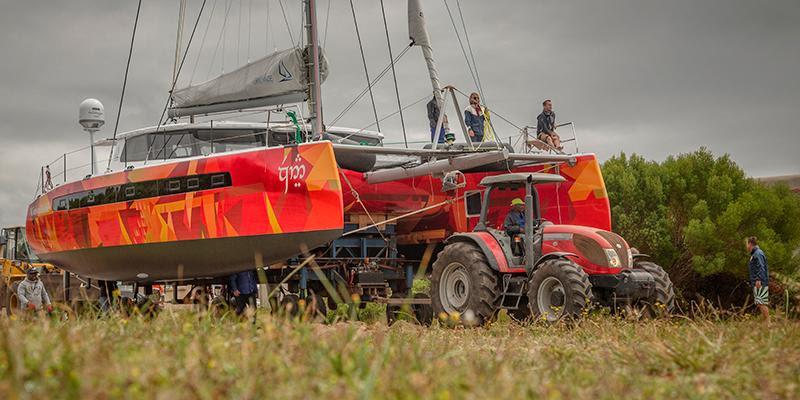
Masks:
[[[0,399],[800,398],[800,325],[0,320]]]

